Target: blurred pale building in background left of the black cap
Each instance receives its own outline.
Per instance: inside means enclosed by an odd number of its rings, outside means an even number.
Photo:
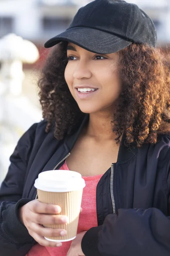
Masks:
[[[15,33],[35,44],[63,32],[88,0],[0,0],[0,37]]]

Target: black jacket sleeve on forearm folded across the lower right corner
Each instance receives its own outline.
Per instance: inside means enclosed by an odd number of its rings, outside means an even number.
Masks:
[[[85,256],[170,256],[170,217],[159,209],[119,209],[82,239]]]

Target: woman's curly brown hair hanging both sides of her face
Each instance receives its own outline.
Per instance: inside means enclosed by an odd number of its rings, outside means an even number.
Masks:
[[[72,134],[85,116],[64,78],[67,44],[54,47],[38,82],[45,131],[54,125],[57,140]],[[155,144],[158,134],[170,133],[170,62],[161,49],[143,44],[131,44],[119,54],[122,92],[111,120],[116,142],[125,134],[126,145]]]

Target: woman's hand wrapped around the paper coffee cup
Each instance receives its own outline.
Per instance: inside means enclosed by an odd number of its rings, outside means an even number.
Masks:
[[[48,241],[44,236],[65,236],[66,230],[42,227],[41,225],[67,223],[68,217],[59,215],[60,212],[61,208],[58,205],[44,204],[36,199],[19,209],[19,218],[26,226],[30,236],[40,245],[56,247],[61,246],[62,243]]]

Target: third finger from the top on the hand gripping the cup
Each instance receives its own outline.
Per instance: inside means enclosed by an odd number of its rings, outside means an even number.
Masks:
[[[31,230],[33,231],[33,233],[37,233],[39,236],[46,236],[46,237],[57,237],[57,236],[67,235],[66,230],[42,227],[40,224],[36,224],[36,223],[32,224]]]

